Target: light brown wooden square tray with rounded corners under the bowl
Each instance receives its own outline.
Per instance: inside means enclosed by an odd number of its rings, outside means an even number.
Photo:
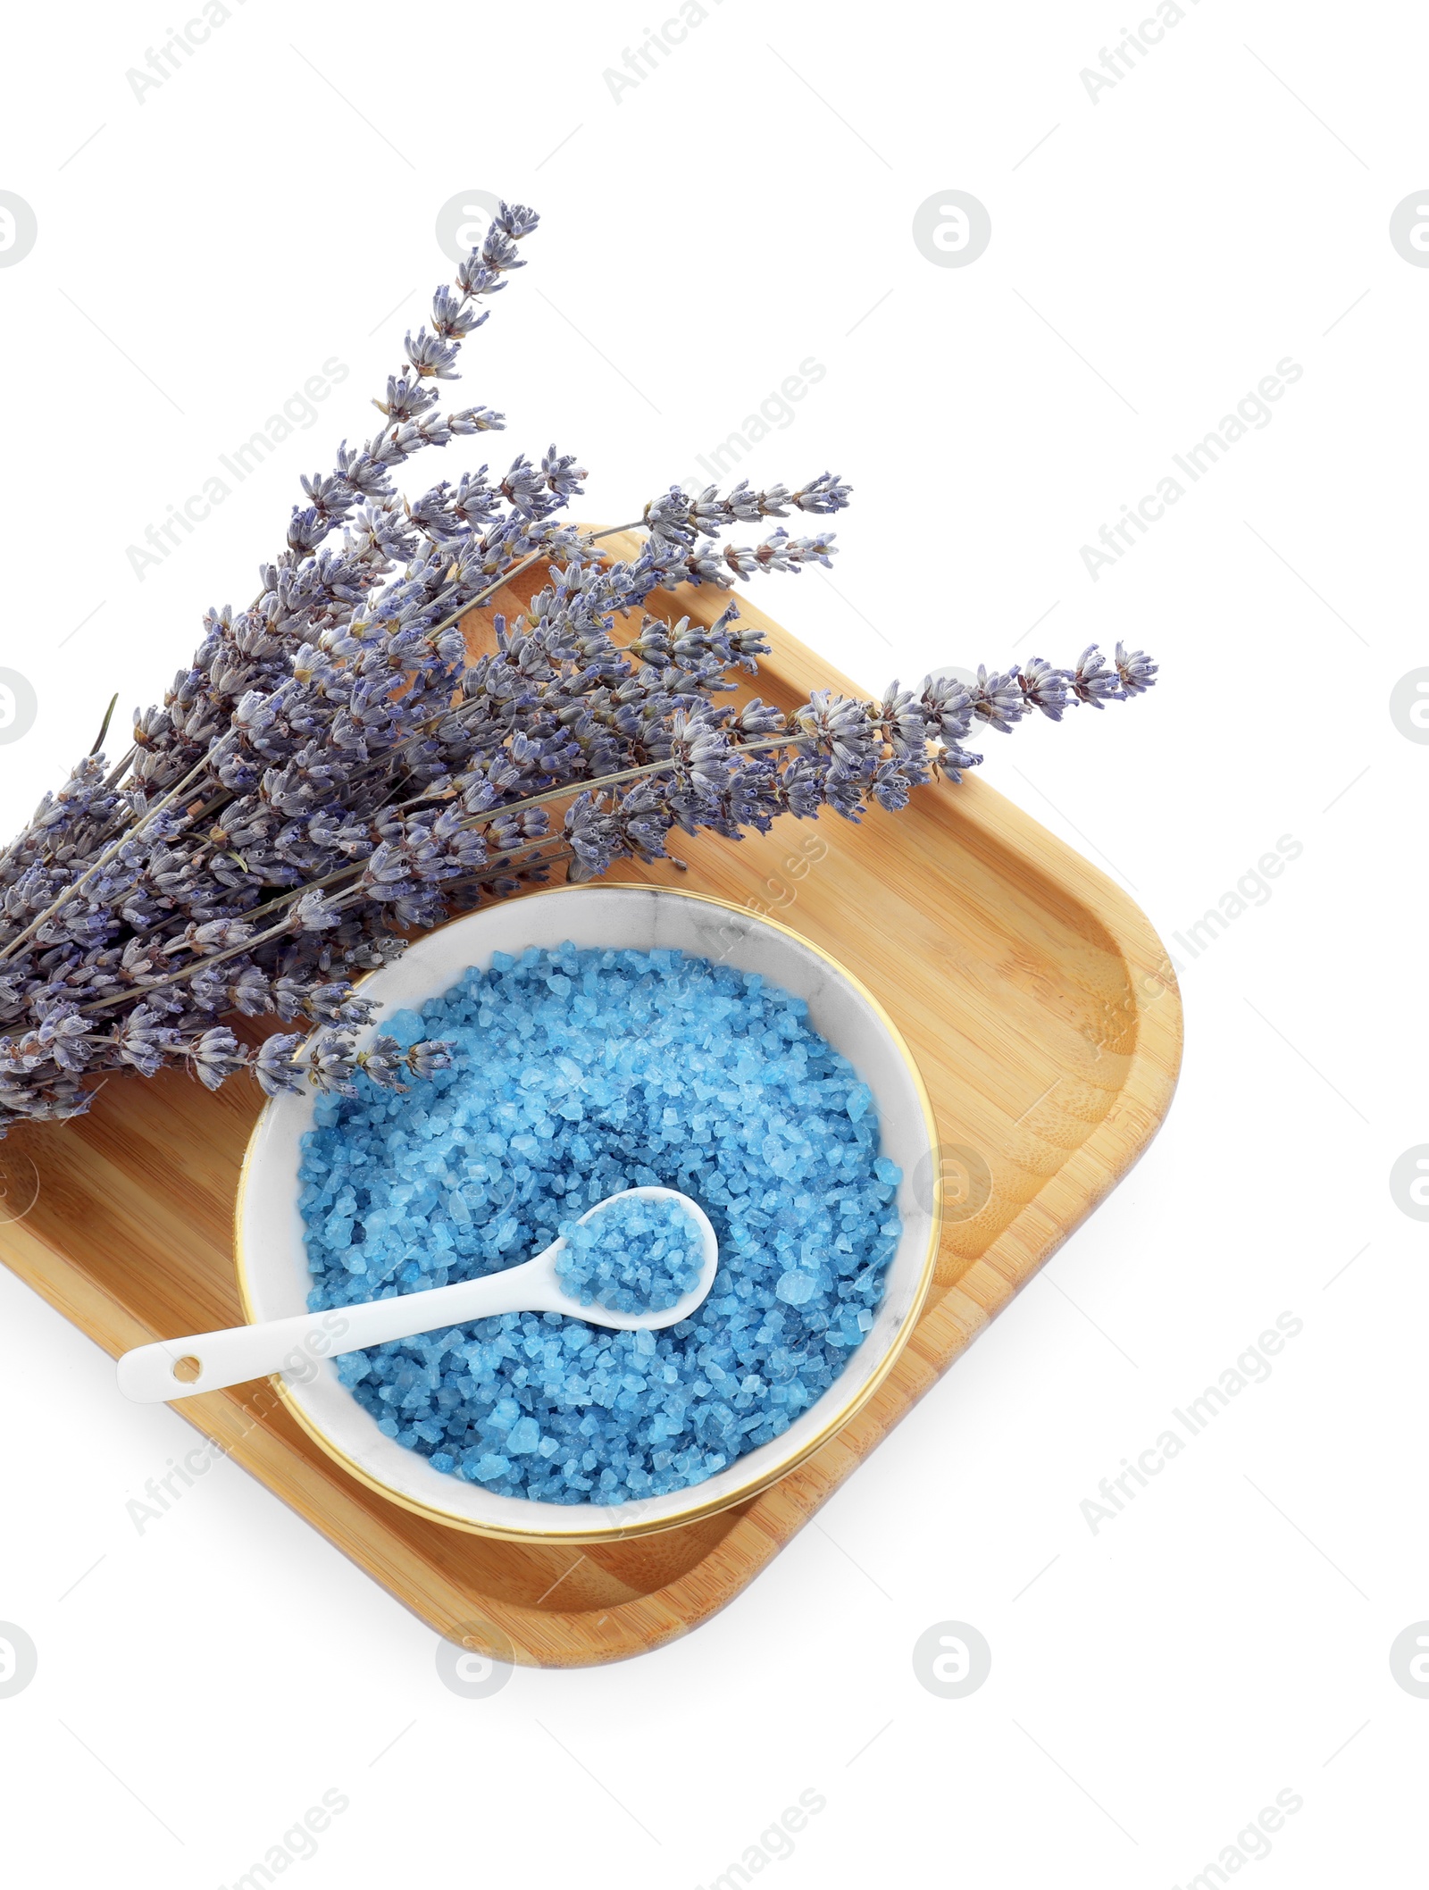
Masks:
[[[527,595],[495,605],[514,612]],[[726,603],[699,588],[650,609],[711,622]],[[741,610],[773,646],[766,699],[854,692]],[[471,648],[490,635],[473,616]],[[879,1395],[750,1503],[582,1550],[495,1542],[384,1501],[299,1431],[270,1380],[174,1406],[439,1633],[541,1667],[660,1646],[752,1582],[1127,1174],[1181,1057],[1179,994],[1147,919],[977,779],[921,788],[862,826],[828,815],[679,850],[688,875],[622,862],[614,877],[709,890],[807,934],[883,1000],[932,1092],[949,1221],[926,1312]],[[38,1194],[0,1225],[0,1259],[113,1355],[236,1323],[232,1202],[259,1102],[248,1081],[210,1096],[181,1074],[115,1077],[87,1117],[13,1130],[6,1193],[23,1202],[38,1177]]]

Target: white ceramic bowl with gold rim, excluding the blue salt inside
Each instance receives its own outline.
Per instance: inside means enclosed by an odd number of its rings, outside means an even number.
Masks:
[[[938,1255],[938,1143],[932,1106],[917,1066],[877,1000],[824,951],[786,926],[724,900],[654,886],[594,885],[527,894],[457,919],[433,932],[363,983],[382,1019],[416,1009],[448,990],[491,953],[527,945],[635,949],[675,947],[762,971],[809,1005],[809,1022],[841,1051],[873,1091],[883,1153],[904,1170],[898,1211],[904,1234],[888,1263],[873,1329],[843,1374],[771,1444],[730,1469],[665,1497],[620,1504],[533,1503],[499,1497],[480,1484],[433,1470],[414,1450],[384,1436],[376,1419],[338,1382],[333,1361],[316,1376],[276,1380],[297,1421],[353,1476],[393,1503],[435,1521],[507,1540],[599,1542],[646,1535],[709,1516],[764,1489],[817,1450],[873,1395],[913,1331]],[[312,1128],[316,1096],[280,1096],[263,1109],[244,1157],[236,1206],[238,1291],[244,1315],[285,1319],[306,1310],[312,1289],[299,1213],[301,1140]]]

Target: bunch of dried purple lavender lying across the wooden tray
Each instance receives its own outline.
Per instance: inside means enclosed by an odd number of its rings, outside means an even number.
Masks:
[[[758,571],[828,565],[834,535],[754,544],[724,535],[794,512],[843,510],[832,472],[805,486],[671,488],[605,561],[560,514],[584,469],[550,446],[405,499],[418,452],[499,431],[484,406],[439,412],[461,342],[524,259],[531,210],[503,204],[431,325],[406,336],[380,431],[302,478],[284,552],[242,609],[210,609],[163,707],[134,714],[108,767],[85,756],[0,854],[0,1134],[81,1113],[95,1079],[183,1064],[208,1089],[250,1070],[267,1094],[304,1081],[350,1094],[359,1072],[395,1089],[446,1060],[440,1043],[355,1049],[370,1005],[352,975],[406,934],[563,871],[654,860],[673,832],[739,839],[779,815],[858,820],[981,756],[975,724],[1034,709],[1060,720],[1155,680],[1117,644],[1074,669],[1036,658],[977,682],[894,684],[883,701],[815,692],[792,714],[720,703],[767,644],[732,605],[701,627],[645,605],[679,584],[728,588]],[[465,660],[459,618],[544,561],[529,609],[497,618],[495,650]],[[622,635],[616,637],[616,622]],[[563,803],[563,807],[556,807]],[[291,1032],[253,1049],[225,1017]]]

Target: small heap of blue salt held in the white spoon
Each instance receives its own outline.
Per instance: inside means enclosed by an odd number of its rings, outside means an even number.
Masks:
[[[667,1312],[699,1285],[705,1236],[677,1200],[616,1200],[561,1234],[556,1278],[582,1306]]]

